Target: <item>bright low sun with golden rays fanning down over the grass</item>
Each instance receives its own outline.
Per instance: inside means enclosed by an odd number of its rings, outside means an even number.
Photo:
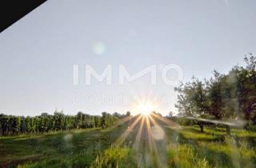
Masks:
[[[146,113],[143,112],[134,117],[122,119],[121,122],[126,123],[127,128],[114,144],[122,146],[132,142],[132,149],[141,156],[141,158],[137,158],[138,164],[142,164],[141,160],[143,159],[144,164],[164,167],[166,165],[166,156],[162,155],[164,154],[162,151],[166,150],[168,141],[162,126],[174,127],[177,124],[167,122],[165,118],[152,112],[153,106],[148,106],[149,104],[144,105],[139,108],[144,109]],[[131,134],[135,134],[135,136]],[[135,138],[131,140],[131,137]]]

